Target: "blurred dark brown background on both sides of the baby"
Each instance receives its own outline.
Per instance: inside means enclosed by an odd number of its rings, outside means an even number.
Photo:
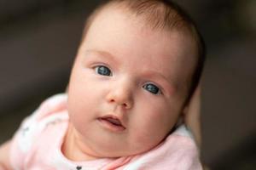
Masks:
[[[84,26],[100,0],[0,0],[0,144],[42,100],[65,90]],[[201,158],[256,169],[256,1],[179,0],[207,43]]]

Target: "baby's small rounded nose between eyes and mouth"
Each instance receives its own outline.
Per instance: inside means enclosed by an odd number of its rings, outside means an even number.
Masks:
[[[133,105],[132,86],[128,81],[113,82],[109,88],[107,101],[110,104],[120,106],[124,109],[131,109]]]

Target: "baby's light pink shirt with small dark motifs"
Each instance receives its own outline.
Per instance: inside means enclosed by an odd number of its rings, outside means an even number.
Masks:
[[[67,94],[57,94],[26,118],[15,133],[10,161],[14,169],[32,170],[186,170],[202,169],[194,139],[178,127],[161,144],[141,155],[118,159],[70,161],[61,153],[68,126]]]

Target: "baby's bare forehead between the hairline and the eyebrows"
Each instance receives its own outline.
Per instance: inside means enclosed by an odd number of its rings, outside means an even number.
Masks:
[[[119,8],[104,8],[96,16],[82,48],[107,50],[123,57],[151,59],[152,69],[168,72],[168,77],[188,77],[195,61],[191,38],[178,31],[152,29],[142,17]],[[147,62],[142,67],[147,67]],[[189,63],[189,65],[188,65]],[[170,68],[172,67],[172,68]],[[191,67],[191,68],[190,68]]]

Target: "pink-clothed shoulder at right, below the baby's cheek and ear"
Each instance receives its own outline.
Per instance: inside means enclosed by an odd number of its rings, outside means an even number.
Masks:
[[[135,156],[125,169],[192,169],[200,170],[199,150],[186,127],[178,127],[162,143]]]

